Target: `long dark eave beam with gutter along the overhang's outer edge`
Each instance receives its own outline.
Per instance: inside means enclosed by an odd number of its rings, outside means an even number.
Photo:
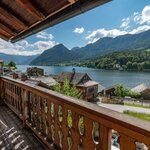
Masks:
[[[35,23],[32,26],[30,26],[28,30],[20,32],[16,37],[11,38],[11,42],[16,42],[18,40],[21,40],[27,36],[35,34],[48,27],[54,26],[60,22],[63,22],[69,18],[77,16],[83,12],[86,12],[92,8],[95,8],[97,6],[100,6],[110,1],[111,0],[88,0],[88,1],[84,0],[84,2],[82,2],[80,6],[82,8],[82,11],[81,9],[79,9],[80,3],[79,1],[77,1],[76,3],[72,4],[72,6],[68,8],[67,6],[65,6],[66,9],[65,8],[59,9],[55,13],[48,15],[43,21]]]

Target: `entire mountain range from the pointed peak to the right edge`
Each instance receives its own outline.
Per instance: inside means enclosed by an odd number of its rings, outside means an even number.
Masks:
[[[116,38],[101,38],[85,47],[67,49],[63,44],[44,51],[34,59],[32,65],[58,65],[82,61],[116,51],[142,50],[150,48],[150,30],[139,34],[126,34]]]

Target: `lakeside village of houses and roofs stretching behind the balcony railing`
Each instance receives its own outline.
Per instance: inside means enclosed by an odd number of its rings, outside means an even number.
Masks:
[[[128,102],[135,105],[150,106],[150,87],[146,84],[140,84],[136,87],[129,89],[135,96],[129,96],[129,92],[123,95],[115,93],[117,87],[123,88],[119,84],[104,87],[100,83],[93,81],[87,73],[80,73],[74,68],[72,72],[62,72],[61,74],[45,75],[44,69],[38,67],[27,68],[26,72],[10,71],[7,67],[3,67],[3,60],[0,60],[0,74],[4,74],[16,80],[21,80],[35,86],[41,86],[47,89],[54,90],[54,86],[59,83],[61,87],[64,85],[65,80],[68,81],[70,86],[75,85],[82,95],[82,99],[88,102],[102,102],[110,104],[124,104]],[[121,90],[121,89],[120,89]],[[123,92],[123,91],[121,91]]]

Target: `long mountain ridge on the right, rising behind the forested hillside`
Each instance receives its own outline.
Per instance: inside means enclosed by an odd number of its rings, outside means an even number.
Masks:
[[[150,30],[139,34],[126,34],[116,38],[101,38],[93,44],[78,49],[82,59],[94,58],[116,51],[140,50],[150,47]]]

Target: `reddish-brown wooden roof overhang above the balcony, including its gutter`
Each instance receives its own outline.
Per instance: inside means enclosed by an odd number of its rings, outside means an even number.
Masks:
[[[0,0],[0,38],[16,42],[111,0]]]

